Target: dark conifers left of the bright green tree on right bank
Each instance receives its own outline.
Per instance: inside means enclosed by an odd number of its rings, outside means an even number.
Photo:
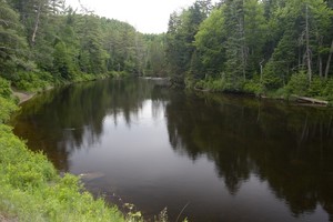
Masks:
[[[183,84],[186,78],[201,74],[196,65],[199,56],[194,47],[200,23],[210,13],[210,1],[196,0],[189,9],[170,16],[165,40],[165,57],[172,81]]]

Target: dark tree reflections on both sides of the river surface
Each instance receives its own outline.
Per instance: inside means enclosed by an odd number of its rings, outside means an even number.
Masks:
[[[57,89],[28,102],[13,121],[14,132],[67,171],[74,149],[99,141],[107,115],[114,122],[124,118],[130,127],[148,99],[155,118],[167,104],[173,149],[193,161],[200,155],[214,161],[230,193],[236,194],[254,173],[268,181],[295,215],[321,204],[333,221],[330,111],[234,97],[185,95],[153,88],[148,81],[103,80]]]

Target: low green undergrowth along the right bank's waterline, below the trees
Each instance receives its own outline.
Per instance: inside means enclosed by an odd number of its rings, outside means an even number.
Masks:
[[[307,74],[304,71],[294,73],[287,84],[274,89],[268,87],[266,80],[261,80],[256,74],[251,80],[240,81],[238,84],[232,78],[206,78],[204,80],[192,80],[192,87],[199,90],[213,92],[243,92],[255,95],[265,95],[275,99],[289,99],[291,95],[310,97],[333,102],[333,79],[324,79],[317,75],[309,82]]]

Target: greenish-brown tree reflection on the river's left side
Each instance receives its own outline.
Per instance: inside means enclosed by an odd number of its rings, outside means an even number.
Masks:
[[[74,149],[99,142],[107,115],[131,119],[151,97],[148,81],[103,80],[73,84],[29,101],[13,120],[14,132],[34,150],[43,150],[61,171],[69,170],[68,157]]]

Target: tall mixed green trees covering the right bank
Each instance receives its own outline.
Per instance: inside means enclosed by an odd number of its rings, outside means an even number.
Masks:
[[[196,0],[170,17],[165,54],[189,88],[333,100],[332,0]]]

